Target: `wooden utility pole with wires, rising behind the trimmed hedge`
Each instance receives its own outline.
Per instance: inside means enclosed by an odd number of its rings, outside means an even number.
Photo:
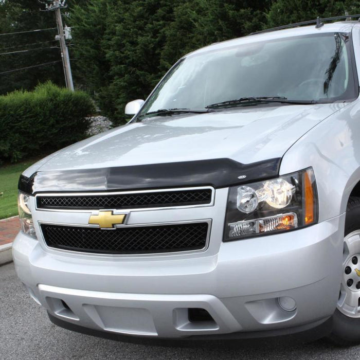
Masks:
[[[41,2],[44,4],[44,2]],[[61,49],[61,59],[63,62],[64,67],[64,74],[65,74],[65,82],[66,87],[71,91],[74,91],[74,84],[73,84],[73,76],[71,75],[71,66],[70,66],[70,59],[69,59],[69,51],[66,46],[65,42],[65,32],[63,27],[63,21],[61,17],[61,9],[67,8],[65,4],[65,0],[54,0],[49,4],[45,3],[45,10],[42,11],[55,11],[56,15],[56,22],[58,25],[58,33],[59,33],[59,41],[60,41],[60,49]]]

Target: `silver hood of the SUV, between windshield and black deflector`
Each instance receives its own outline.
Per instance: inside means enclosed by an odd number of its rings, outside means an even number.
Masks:
[[[343,103],[237,107],[205,114],[153,117],[80,141],[30,167],[95,169],[229,158],[242,164],[280,158]]]

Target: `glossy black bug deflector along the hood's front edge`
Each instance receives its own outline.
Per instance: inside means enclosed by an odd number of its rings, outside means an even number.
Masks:
[[[241,164],[228,158],[149,164],[126,167],[39,171],[19,179],[19,190],[39,192],[82,192],[143,190],[190,186],[224,188],[265,180],[279,174],[281,158]],[[245,176],[240,178],[239,176]]]

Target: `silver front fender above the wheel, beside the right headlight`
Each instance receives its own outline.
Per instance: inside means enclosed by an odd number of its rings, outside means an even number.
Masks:
[[[280,175],[312,166],[319,196],[319,222],[346,211],[360,180],[360,104],[354,101],[304,134],[287,150]]]

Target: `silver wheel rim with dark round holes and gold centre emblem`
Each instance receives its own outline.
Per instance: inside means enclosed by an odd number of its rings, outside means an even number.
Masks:
[[[337,309],[346,316],[360,318],[360,230],[344,239],[343,279]]]

